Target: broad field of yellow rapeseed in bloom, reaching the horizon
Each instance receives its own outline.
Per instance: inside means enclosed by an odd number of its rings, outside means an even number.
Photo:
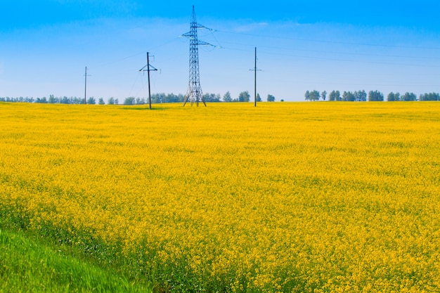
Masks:
[[[0,209],[159,291],[440,290],[440,103],[0,103],[0,123]]]

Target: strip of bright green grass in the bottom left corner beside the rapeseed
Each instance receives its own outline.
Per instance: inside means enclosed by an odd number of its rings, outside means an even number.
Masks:
[[[0,292],[152,292],[59,248],[0,229]]]

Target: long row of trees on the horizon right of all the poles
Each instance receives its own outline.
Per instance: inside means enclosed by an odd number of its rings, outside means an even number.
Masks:
[[[347,101],[347,102],[366,102],[368,101],[384,101],[384,95],[380,91],[369,91],[368,95],[364,90],[361,91],[344,91],[341,93],[339,91],[331,91],[327,97],[327,91],[320,93],[319,91],[306,91],[304,93],[306,100],[334,100],[334,101]],[[422,93],[417,96],[415,93],[389,93],[387,96],[387,101],[412,101],[412,100],[440,100],[440,93]]]

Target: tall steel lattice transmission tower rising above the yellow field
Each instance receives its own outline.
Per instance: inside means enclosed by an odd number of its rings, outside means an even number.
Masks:
[[[195,103],[199,105],[202,102],[205,106],[205,98],[203,98],[202,87],[200,86],[200,72],[199,72],[199,45],[202,46],[214,46],[206,41],[200,41],[198,39],[198,29],[205,28],[211,30],[203,25],[200,25],[195,20],[195,9],[193,6],[193,15],[191,16],[190,31],[183,34],[183,37],[187,37],[190,40],[190,71],[189,71],[189,83],[188,91],[186,92],[185,100],[183,100],[183,106],[186,105],[188,100],[191,105]]]

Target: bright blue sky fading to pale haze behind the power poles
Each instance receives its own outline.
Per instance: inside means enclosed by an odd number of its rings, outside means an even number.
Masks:
[[[0,96],[186,93],[192,5],[205,93],[304,100],[306,90],[440,92],[438,1],[0,0]]]

